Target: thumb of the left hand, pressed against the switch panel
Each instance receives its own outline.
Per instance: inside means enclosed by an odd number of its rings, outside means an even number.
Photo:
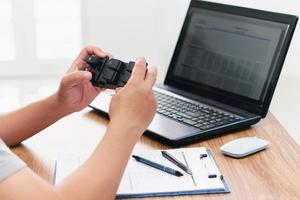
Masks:
[[[88,71],[74,71],[69,74],[66,74],[65,77],[62,79],[61,84],[63,87],[73,87],[91,79],[92,74]]]

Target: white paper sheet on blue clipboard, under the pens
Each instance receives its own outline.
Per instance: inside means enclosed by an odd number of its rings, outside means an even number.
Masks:
[[[221,173],[205,147],[172,149],[167,151],[182,163],[185,164],[187,162],[189,168],[193,172],[194,181],[191,175],[185,173],[182,169],[164,158],[160,150],[134,152],[135,155],[142,156],[164,166],[176,169],[182,172],[183,176],[177,177],[168,174],[143,163],[137,162],[131,157],[125,169],[117,194],[130,195],[190,192],[199,190],[210,191],[216,189],[222,190],[225,188],[223,181],[220,178]],[[201,154],[207,154],[208,156],[201,160]],[[186,158],[186,162],[184,156]],[[81,157],[57,159],[55,184],[59,183],[64,177],[77,169],[84,160],[86,160],[86,158]],[[208,178],[209,173],[216,174],[217,177]]]

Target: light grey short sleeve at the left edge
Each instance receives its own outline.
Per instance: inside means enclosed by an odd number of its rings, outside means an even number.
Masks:
[[[13,154],[0,138],[0,183],[25,166],[26,164]]]

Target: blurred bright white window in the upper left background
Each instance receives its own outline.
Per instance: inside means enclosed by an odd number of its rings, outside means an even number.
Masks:
[[[0,0],[0,76],[62,74],[82,46],[81,0]]]

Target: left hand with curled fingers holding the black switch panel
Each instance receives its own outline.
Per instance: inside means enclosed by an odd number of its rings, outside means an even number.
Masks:
[[[59,90],[55,94],[59,107],[66,114],[82,110],[101,92],[100,88],[91,84],[92,74],[83,71],[86,59],[91,55],[111,56],[110,53],[94,46],[88,46],[81,51],[62,78]]]

